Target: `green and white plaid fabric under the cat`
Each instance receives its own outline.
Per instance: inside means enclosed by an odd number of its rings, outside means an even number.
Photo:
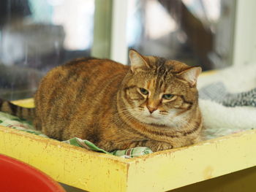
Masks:
[[[23,119],[20,119],[13,115],[9,115],[4,112],[0,112],[0,126],[15,128],[20,131],[26,131],[31,134],[39,135],[41,137],[47,137],[45,134],[42,134],[40,131],[34,130],[32,123],[29,122],[28,120],[23,120]],[[105,151],[105,150],[97,147],[96,145],[94,145],[94,143],[89,142],[86,139],[80,139],[77,137],[69,139],[64,142],[67,144],[70,144],[70,145],[75,145],[77,147],[83,147],[88,150],[94,150],[94,151],[101,152],[101,153],[112,154],[112,155],[116,155],[116,156],[123,157],[123,158],[134,158],[134,157],[138,157],[140,155],[146,155],[149,153],[153,153],[152,150],[150,150],[148,147],[134,147],[134,148],[127,149],[127,150],[115,150],[112,152],[108,152],[108,151]]]

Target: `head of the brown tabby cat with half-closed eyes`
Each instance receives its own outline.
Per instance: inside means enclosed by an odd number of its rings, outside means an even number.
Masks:
[[[123,81],[123,108],[140,122],[158,126],[186,123],[197,107],[200,67],[129,51],[131,67]]]

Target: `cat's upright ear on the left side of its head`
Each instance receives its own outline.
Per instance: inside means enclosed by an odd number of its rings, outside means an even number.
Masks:
[[[143,58],[143,55],[140,55],[136,50],[129,50],[129,61],[131,62],[132,72],[134,72],[135,69],[141,69],[144,66],[149,67],[145,58]]]

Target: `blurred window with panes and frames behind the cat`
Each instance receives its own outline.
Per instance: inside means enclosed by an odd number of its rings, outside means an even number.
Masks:
[[[254,0],[1,0],[0,97],[33,96],[54,66],[128,50],[203,70],[256,60]]]

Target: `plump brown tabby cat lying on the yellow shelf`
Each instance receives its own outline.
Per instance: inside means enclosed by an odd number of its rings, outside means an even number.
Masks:
[[[129,50],[131,66],[80,58],[42,78],[35,108],[0,100],[0,110],[33,119],[53,139],[79,137],[107,151],[167,150],[202,138],[199,66]]]

